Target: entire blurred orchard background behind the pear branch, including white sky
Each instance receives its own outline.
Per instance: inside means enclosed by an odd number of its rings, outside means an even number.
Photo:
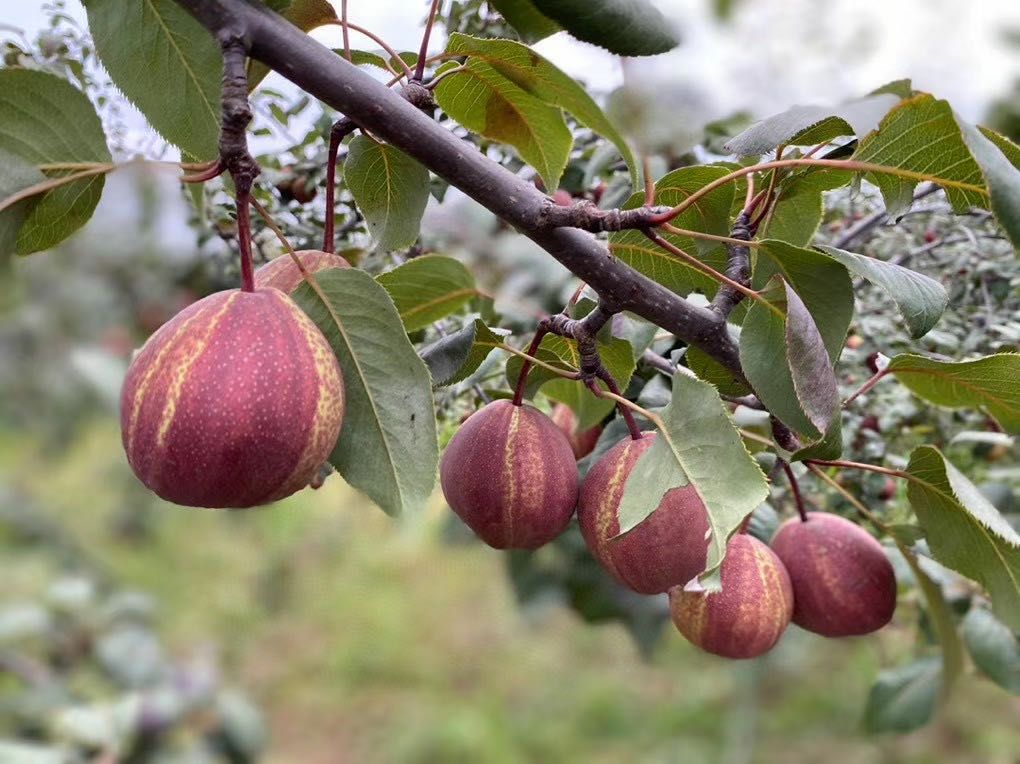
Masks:
[[[89,5],[102,15],[103,6],[116,4]],[[351,20],[369,26],[359,5],[350,3]],[[945,69],[928,69],[910,58],[905,42],[891,48],[875,43],[884,59],[869,53],[869,41],[883,38],[876,18],[852,14],[846,28],[858,31],[860,40],[826,32],[832,39],[820,50],[809,55],[808,48],[789,61],[755,23],[767,9],[740,2],[698,5],[671,9],[679,11],[686,38],[661,61],[628,59],[620,66],[610,54],[571,43],[565,33],[537,48],[606,104],[610,123],[640,149],[635,168],[646,158],[653,177],[732,161],[723,146],[748,128],[752,116],[768,116],[805,99],[821,104],[821,114],[832,113],[839,102],[860,99],[895,77],[919,79],[894,92],[932,90],[948,97],[962,119],[991,120],[1005,135],[1020,137],[1009,75],[1017,56],[1010,45],[1008,8],[997,16],[982,5],[978,21],[968,19],[966,34],[934,57],[942,65],[956,64],[946,75],[947,88],[980,80],[973,90],[942,92],[938,72]],[[934,11],[918,9],[912,29],[941,30],[956,40],[949,5],[940,21]],[[443,50],[449,32],[515,36],[482,3],[442,6],[429,50]],[[181,12],[170,2],[154,7],[170,17]],[[373,32],[398,50],[416,49],[428,12],[425,3],[376,12],[399,17],[395,32],[406,37],[392,39],[381,21]],[[39,15],[39,30],[7,33],[4,65],[36,69],[83,88],[117,162],[139,155],[178,161],[176,150],[145,128],[144,117],[114,87],[126,77],[120,88],[139,98],[140,86],[130,82],[131,73],[114,63],[111,84],[97,64],[82,9],[48,4]],[[788,16],[771,20],[783,18],[779,26],[796,26]],[[835,27],[815,14],[810,20],[816,30]],[[103,34],[109,34],[108,24]],[[314,35],[343,53],[336,23]],[[747,53],[756,44],[760,58],[747,54],[728,80],[716,67],[705,77],[677,78],[666,62],[671,55],[682,61],[692,51],[702,58],[727,49]],[[366,51],[366,70],[385,59],[374,42],[353,32],[351,47]],[[846,66],[836,63],[845,58],[850,59]],[[143,59],[139,53],[128,60],[128,68],[141,66]],[[584,64],[578,67],[578,60]],[[859,82],[861,71],[868,71],[866,62],[875,60],[885,66],[891,61],[894,70],[885,77],[886,69],[876,65],[881,73]],[[769,65],[749,65],[762,61]],[[389,65],[400,68],[394,61]],[[984,75],[986,65],[994,66],[994,77]],[[982,75],[967,77],[968,70]],[[663,82],[663,72],[672,82]],[[833,80],[833,72],[840,77]],[[734,90],[734,82],[741,89]],[[627,90],[610,93],[621,85]],[[5,95],[0,93],[0,101]],[[7,113],[3,108],[0,103],[0,113]],[[455,111],[455,104],[450,108]],[[253,109],[250,146],[262,167],[255,198],[298,249],[318,248],[326,137],[338,115],[275,74],[255,91]],[[470,121],[469,115],[461,118]],[[74,125],[71,120],[61,128],[70,145]],[[605,130],[594,134],[591,119],[583,124],[570,119],[566,125],[573,149],[565,171],[557,176],[555,168],[544,166],[538,175],[558,177],[557,185],[572,199],[598,196],[600,203],[608,200],[605,207],[621,206],[631,191],[631,174],[612,144],[598,137],[605,137]],[[183,143],[191,139],[202,140],[176,136]],[[527,159],[526,150],[518,147],[518,154],[498,136],[480,143],[497,161],[538,181],[520,161],[520,156]],[[926,148],[919,144],[916,150]],[[1002,155],[1011,156],[1005,148]],[[19,166],[6,165],[4,197],[29,183],[12,172]],[[142,162],[111,172],[100,206],[83,230],[51,252],[15,258],[4,276],[0,759],[62,761],[68,752],[96,761],[125,756],[137,761],[1015,759],[1020,749],[1020,706],[1011,695],[1020,682],[1015,634],[988,609],[978,584],[931,559],[922,538],[931,530],[917,524],[907,486],[884,474],[830,470],[826,474],[833,487],[798,472],[809,508],[855,517],[852,501],[859,500],[892,529],[884,534],[900,582],[892,624],[867,638],[839,641],[792,626],[766,657],[741,663],[685,643],[669,625],[665,598],[639,598],[615,588],[575,530],[534,555],[495,552],[473,539],[439,491],[397,518],[384,515],[337,475],[317,492],[306,490],[248,512],[186,510],[160,502],[132,475],[119,444],[114,421],[124,369],[133,349],[181,308],[236,287],[239,279],[232,186],[215,180],[202,194],[196,191],[200,185],[182,193],[178,175],[174,168]],[[1015,177],[1006,175],[999,187],[999,222],[980,205],[967,209],[952,195],[947,199],[920,186],[913,207],[892,224],[882,214],[879,193],[889,189],[872,185],[874,175],[861,188],[825,194],[817,233],[807,235],[812,244],[909,266],[940,284],[948,303],[937,323],[912,339],[918,332],[910,316],[918,304],[909,300],[916,296],[892,288],[894,296],[908,303],[901,314],[888,292],[858,284],[856,314],[836,367],[843,399],[871,375],[876,352],[963,361],[1016,349],[1020,273],[1016,237],[1011,241],[1009,230],[1016,230],[1018,218],[1011,215],[1020,192]],[[759,190],[769,184],[767,174],[762,180]],[[360,203],[357,185],[350,175],[348,181],[341,179],[339,187],[337,246],[355,264],[373,275],[398,265],[418,267],[415,261],[437,262],[422,260],[426,254],[467,265],[458,269],[443,261],[443,275],[455,283],[444,289],[464,299],[448,299],[443,312],[429,314],[420,325],[405,320],[419,352],[471,326],[476,316],[509,329],[507,342],[525,348],[537,321],[558,312],[578,286],[541,249],[435,176],[420,238],[413,236],[415,230],[409,245],[393,251],[376,247],[379,223],[368,214],[366,224],[355,204]],[[997,196],[993,190],[993,209]],[[787,203],[797,204],[796,199]],[[793,218],[800,219],[813,204],[793,206]],[[951,205],[963,214],[952,214]],[[254,224],[257,262],[280,255],[273,232],[258,216]],[[793,223],[776,230],[805,236]],[[24,230],[18,234],[27,236]],[[395,277],[390,279],[393,287]],[[386,285],[387,276],[379,282]],[[393,289],[391,294],[398,308],[402,300],[414,307],[415,295]],[[921,306],[931,314],[930,305]],[[632,321],[619,328],[618,337],[631,348],[649,343],[649,350],[667,363],[682,359],[675,354],[682,343],[661,329],[642,340],[647,328]],[[512,389],[519,363],[515,367],[506,354],[498,355],[468,383],[436,390],[442,445],[479,398]],[[662,364],[635,355],[627,397],[646,408],[665,405],[669,388],[668,376],[658,370]],[[698,367],[690,358],[681,363]],[[842,458],[902,470],[912,449],[936,445],[1015,526],[1020,469],[1011,437],[1015,419],[1008,413],[1018,395],[1015,371],[1000,380],[1005,417],[966,405],[973,402],[936,408],[885,379],[842,411]],[[556,394],[552,387],[545,390]],[[559,397],[577,402],[562,389]],[[595,399],[581,400],[582,413],[601,406]],[[538,402],[548,410],[548,399],[540,396]],[[610,413],[611,405],[592,416]],[[759,439],[772,437],[760,413],[742,407],[734,416]],[[607,431],[621,436],[620,424],[617,419]],[[795,501],[781,472],[772,474],[774,462],[762,466],[774,479],[768,505],[752,518],[751,532],[767,540],[778,517],[794,514]],[[920,573],[909,567],[891,539],[913,550]],[[1003,546],[997,548],[1015,559],[1009,539],[1000,541]],[[1011,564],[1008,569],[1015,571]],[[919,574],[930,582],[926,589],[918,588]],[[1006,593],[1006,604],[1000,605],[1007,610],[1010,596]],[[952,694],[941,692],[945,672],[938,663],[945,660],[947,622],[959,634],[961,659]],[[156,732],[140,734],[143,718]],[[157,755],[167,758],[154,759]]]

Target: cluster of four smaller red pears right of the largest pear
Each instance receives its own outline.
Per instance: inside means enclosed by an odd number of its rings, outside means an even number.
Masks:
[[[555,416],[570,423],[559,409]],[[620,536],[624,485],[655,438],[621,441],[580,481],[578,450],[556,421],[526,404],[494,401],[468,417],[447,447],[443,492],[496,549],[537,549],[563,532],[576,511],[589,549],[608,573],[641,594],[668,593],[680,633],[726,658],[768,652],[790,621],[825,636],[865,634],[888,623],[897,597],[892,566],[874,538],[837,515],[789,520],[770,545],[733,536],[716,593],[697,583],[710,527],[693,486],[667,492],[644,522]]]

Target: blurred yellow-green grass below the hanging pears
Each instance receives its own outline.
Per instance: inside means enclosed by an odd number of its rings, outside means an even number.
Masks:
[[[338,477],[265,509],[172,507],[134,481],[112,422],[59,457],[0,439],[0,481],[156,596],[174,650],[218,647],[269,717],[271,762],[1006,764],[1020,751],[1020,701],[973,677],[923,730],[860,733],[868,687],[912,630],[825,641],[790,628],[754,662],[670,630],[643,662],[618,626],[522,612],[501,554],[443,542],[442,497],[403,522]],[[20,563],[38,551],[0,551],[5,576],[37,569]],[[3,597],[31,578],[6,577]],[[898,621],[916,617],[901,602]]]

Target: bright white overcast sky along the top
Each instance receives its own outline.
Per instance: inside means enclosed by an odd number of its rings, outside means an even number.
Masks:
[[[980,120],[990,100],[1020,78],[1020,49],[1004,40],[1006,30],[1020,30],[1020,0],[743,0],[729,23],[710,16],[709,0],[656,3],[681,24],[684,43],[670,54],[635,60],[629,75],[681,84],[706,120],[741,108],[765,116],[794,103],[834,103],[901,78]],[[0,24],[38,31],[45,22],[41,5],[3,0]],[[417,49],[427,5],[349,2],[352,20],[403,50]],[[68,10],[84,18],[73,0]],[[314,35],[339,45],[338,28]],[[374,48],[358,36],[352,43]],[[436,39],[434,47],[441,45]],[[618,59],[564,34],[537,48],[598,92],[621,82]]]

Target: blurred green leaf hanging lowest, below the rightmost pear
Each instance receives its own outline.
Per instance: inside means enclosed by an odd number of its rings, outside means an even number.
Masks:
[[[869,732],[909,732],[928,723],[938,705],[942,662],[922,658],[878,674],[868,695],[864,727]]]

